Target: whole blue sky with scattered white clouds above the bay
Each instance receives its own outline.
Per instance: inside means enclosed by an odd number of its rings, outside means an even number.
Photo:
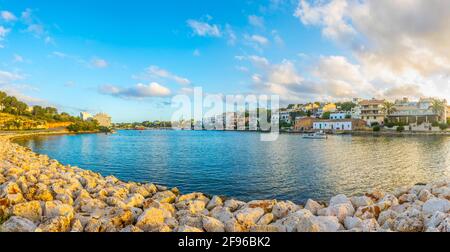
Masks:
[[[0,90],[114,121],[171,97],[450,100],[450,1],[0,0]]]

